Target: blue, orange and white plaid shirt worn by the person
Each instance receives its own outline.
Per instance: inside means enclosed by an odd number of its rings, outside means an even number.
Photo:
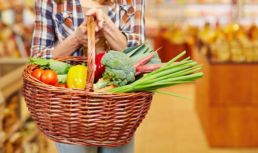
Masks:
[[[52,58],[54,46],[69,36],[83,21],[80,0],[36,0],[36,19],[31,41],[30,56]],[[127,38],[127,47],[144,41],[144,0],[110,0],[108,16]],[[81,56],[82,47],[72,56]]]

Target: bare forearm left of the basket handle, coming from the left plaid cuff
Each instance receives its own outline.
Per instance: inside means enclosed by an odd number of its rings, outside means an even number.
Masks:
[[[53,58],[58,56],[71,56],[72,53],[80,47],[80,43],[76,39],[74,32],[64,39],[59,45],[53,49]]]

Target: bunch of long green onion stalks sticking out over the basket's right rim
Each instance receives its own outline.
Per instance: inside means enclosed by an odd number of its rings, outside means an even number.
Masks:
[[[156,89],[165,88],[181,83],[191,83],[196,79],[202,77],[203,73],[198,72],[202,68],[202,65],[197,65],[197,62],[189,60],[190,57],[183,59],[182,61],[172,64],[177,59],[182,57],[186,51],[181,52],[179,55],[168,61],[165,65],[159,69],[143,76],[142,78],[136,80],[135,82],[112,88],[106,90],[106,92],[112,93],[128,93],[128,92],[137,92],[137,91],[146,91],[146,92],[156,92],[161,94],[167,94],[171,96],[176,96],[184,99],[188,99],[182,96],[171,94],[169,92],[157,91]]]

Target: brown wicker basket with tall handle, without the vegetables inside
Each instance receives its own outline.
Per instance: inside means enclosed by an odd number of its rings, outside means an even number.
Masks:
[[[87,63],[85,90],[43,84],[30,73],[38,65],[29,64],[22,73],[23,95],[41,134],[59,143],[98,147],[128,144],[149,110],[153,93],[94,92],[94,17],[88,18],[88,59],[57,57],[72,65]]]

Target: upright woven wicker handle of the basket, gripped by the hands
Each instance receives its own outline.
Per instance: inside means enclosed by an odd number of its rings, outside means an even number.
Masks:
[[[94,71],[95,71],[95,17],[89,16],[87,19],[87,36],[88,36],[88,69],[87,69],[87,79],[84,89],[85,95],[88,92],[93,91],[94,82]]]

